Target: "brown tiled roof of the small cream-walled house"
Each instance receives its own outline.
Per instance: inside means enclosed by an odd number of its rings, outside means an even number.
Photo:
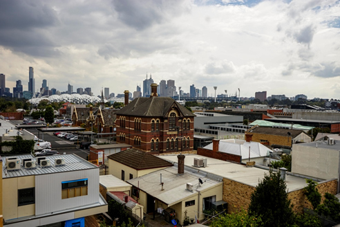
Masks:
[[[147,170],[160,167],[172,166],[172,163],[153,156],[148,152],[143,152],[139,149],[131,148],[126,149],[122,152],[116,154],[111,154],[108,156],[113,161],[122,163],[123,165],[129,166],[135,170]]]

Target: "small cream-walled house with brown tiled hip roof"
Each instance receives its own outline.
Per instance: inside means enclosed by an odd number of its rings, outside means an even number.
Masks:
[[[135,148],[126,149],[108,156],[108,174],[112,174],[122,181],[143,176],[149,172],[161,170],[172,165],[169,161]]]

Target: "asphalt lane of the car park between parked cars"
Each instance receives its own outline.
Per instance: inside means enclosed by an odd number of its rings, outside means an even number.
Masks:
[[[42,134],[37,129],[26,129],[32,134],[35,134],[38,138],[51,143],[52,149],[57,150],[60,154],[77,154],[84,159],[90,154],[88,149],[79,149],[79,145],[75,145],[74,142],[54,136],[52,132]]]

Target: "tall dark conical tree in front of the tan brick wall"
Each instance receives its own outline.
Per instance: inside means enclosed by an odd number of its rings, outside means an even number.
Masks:
[[[263,226],[292,226],[294,213],[280,172],[265,174],[251,196],[249,215],[261,217]]]

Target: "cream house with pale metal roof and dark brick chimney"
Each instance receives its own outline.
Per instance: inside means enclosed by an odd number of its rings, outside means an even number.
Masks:
[[[133,185],[132,197],[144,207],[147,213],[159,212],[164,220],[171,223],[176,219],[183,225],[185,214],[202,221],[203,210],[213,208],[223,202],[222,178],[207,176],[195,170],[185,170],[185,156],[180,154],[178,166],[145,174],[127,181]]]

